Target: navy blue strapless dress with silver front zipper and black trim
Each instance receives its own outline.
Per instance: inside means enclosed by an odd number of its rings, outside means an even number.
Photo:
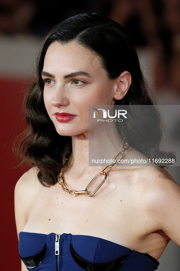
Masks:
[[[35,271],[154,271],[159,262],[148,254],[108,240],[63,233],[19,233],[19,253]]]

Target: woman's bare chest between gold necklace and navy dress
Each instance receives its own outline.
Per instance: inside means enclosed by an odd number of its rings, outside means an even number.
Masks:
[[[137,243],[147,223],[139,215],[142,210],[132,201],[132,194],[127,192],[102,190],[94,197],[72,197],[63,190],[44,190],[31,202],[24,230],[91,235],[126,246]]]

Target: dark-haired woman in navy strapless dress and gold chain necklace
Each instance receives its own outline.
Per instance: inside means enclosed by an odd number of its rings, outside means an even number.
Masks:
[[[155,270],[169,240],[180,245],[180,187],[163,168],[88,166],[88,105],[114,104],[153,104],[125,31],[98,14],[58,24],[26,100],[20,151],[33,168],[15,189],[22,270]],[[153,112],[151,141],[136,119],[108,129],[102,147],[114,157],[123,147],[117,159],[165,155]],[[98,191],[94,176],[104,181]]]

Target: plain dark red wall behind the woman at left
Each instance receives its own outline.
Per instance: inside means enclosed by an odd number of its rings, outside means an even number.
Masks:
[[[22,103],[23,89],[27,87],[24,80],[10,78],[0,79],[1,99],[1,270],[21,270],[18,252],[18,238],[14,215],[14,188],[23,174],[12,154],[13,139],[23,131]],[[20,116],[20,117],[19,117]]]

